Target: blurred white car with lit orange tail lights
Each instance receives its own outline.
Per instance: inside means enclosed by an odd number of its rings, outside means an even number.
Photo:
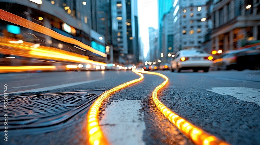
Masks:
[[[171,61],[171,71],[193,69],[194,72],[203,70],[204,72],[209,71],[209,67],[212,65],[213,56],[206,53],[202,49],[183,49],[176,53],[173,61]]]

